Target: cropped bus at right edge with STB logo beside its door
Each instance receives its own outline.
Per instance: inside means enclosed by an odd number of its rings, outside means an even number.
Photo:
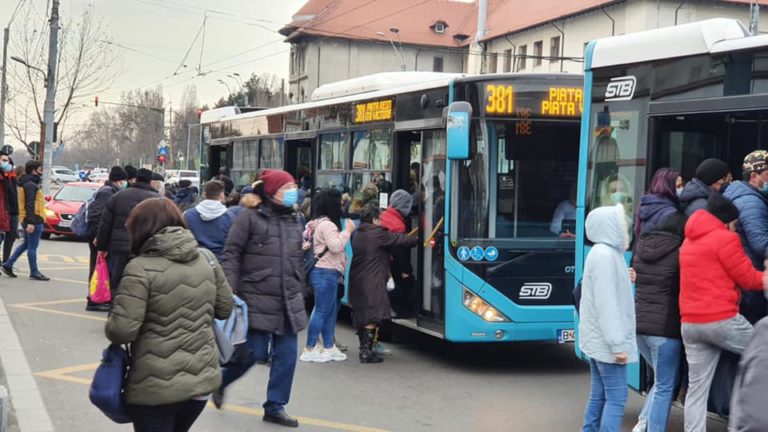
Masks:
[[[688,181],[701,161],[716,157],[739,179],[744,156],[768,148],[768,36],[712,19],[591,42],[584,98],[577,280],[589,253],[585,217],[614,205],[612,193],[623,197],[631,237],[657,169],[673,168]],[[645,370],[642,362],[630,365],[631,388],[648,390]]]

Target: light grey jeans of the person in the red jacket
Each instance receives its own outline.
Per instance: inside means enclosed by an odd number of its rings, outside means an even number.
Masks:
[[[706,324],[683,323],[688,360],[685,432],[707,430],[707,398],[721,350],[741,354],[752,340],[752,324],[742,315]]]

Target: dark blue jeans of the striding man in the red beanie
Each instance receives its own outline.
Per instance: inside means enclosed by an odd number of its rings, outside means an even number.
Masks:
[[[226,388],[257,362],[266,363],[269,357],[270,337],[272,340],[272,366],[267,384],[267,401],[264,411],[276,414],[285,409],[291,398],[293,373],[296,371],[298,355],[298,337],[296,334],[272,334],[259,330],[248,330],[245,343],[251,350],[251,359],[245,364],[237,364],[222,369],[222,388]]]

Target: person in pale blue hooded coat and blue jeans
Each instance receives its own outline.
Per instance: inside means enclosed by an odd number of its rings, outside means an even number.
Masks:
[[[627,364],[637,361],[635,302],[624,251],[629,228],[624,207],[589,213],[586,233],[594,243],[584,263],[579,348],[589,357],[592,390],[584,432],[618,432],[627,403]]]

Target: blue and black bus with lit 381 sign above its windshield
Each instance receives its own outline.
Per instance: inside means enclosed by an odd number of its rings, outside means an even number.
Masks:
[[[381,207],[407,190],[419,246],[412,307],[394,323],[451,342],[570,342],[582,86],[567,74],[377,74],[307,103],[211,110],[201,177],[224,167],[245,185],[283,168],[353,200],[373,183]]]

